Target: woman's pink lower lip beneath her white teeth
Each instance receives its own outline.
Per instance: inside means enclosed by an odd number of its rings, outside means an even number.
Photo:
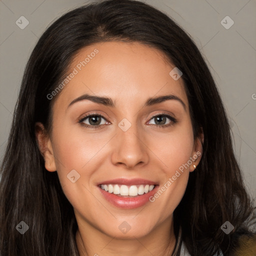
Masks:
[[[111,202],[114,206],[118,208],[133,209],[146,204],[149,201],[149,197],[155,193],[157,187],[158,185],[155,185],[154,188],[148,193],[132,197],[122,197],[114,193],[108,193],[100,187],[98,187],[98,189],[100,189],[100,192],[105,197],[105,199]]]

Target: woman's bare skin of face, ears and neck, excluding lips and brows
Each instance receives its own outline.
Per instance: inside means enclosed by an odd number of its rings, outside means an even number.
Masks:
[[[51,134],[45,135],[43,125],[36,123],[45,168],[57,171],[74,208],[80,255],[167,255],[175,244],[172,213],[200,156],[154,202],[135,209],[112,205],[96,185],[125,177],[149,179],[161,187],[190,157],[202,152],[199,139],[193,139],[182,76],[174,80],[169,75],[174,66],[159,50],[118,41],[81,49],[72,60],[70,72],[95,48],[99,52],[81,70],[77,69],[78,73],[57,95]],[[84,93],[109,97],[115,107],[89,100],[68,107]],[[143,107],[149,97],[168,94],[178,96],[185,109],[174,99]],[[104,116],[101,128],[78,123],[94,111]],[[175,116],[177,123],[166,117],[162,123],[171,125],[160,127],[163,124],[153,116],[162,113]],[[127,131],[118,127],[123,118],[131,123]],[[89,118],[84,122],[89,124]],[[74,183],[66,177],[72,169],[80,174]],[[125,234],[118,228],[123,221],[130,225]]]

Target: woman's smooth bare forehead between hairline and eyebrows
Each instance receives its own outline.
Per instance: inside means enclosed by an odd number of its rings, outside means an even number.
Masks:
[[[68,105],[75,97],[89,93],[110,97],[121,105],[175,94],[187,104],[182,79],[174,80],[169,74],[174,67],[160,50],[138,42],[95,43],[73,57],[68,82],[57,101]]]

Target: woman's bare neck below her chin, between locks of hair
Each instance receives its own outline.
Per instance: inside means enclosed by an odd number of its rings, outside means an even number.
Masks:
[[[172,216],[143,237],[111,237],[88,223],[78,224],[76,232],[80,256],[169,256],[174,250],[175,242]]]

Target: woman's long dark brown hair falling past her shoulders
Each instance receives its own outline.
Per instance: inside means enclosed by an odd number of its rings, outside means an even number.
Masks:
[[[173,20],[140,1],[106,0],[73,9],[39,38],[26,65],[0,169],[2,256],[78,255],[77,223],[57,173],[44,167],[35,122],[50,131],[55,96],[70,61],[83,47],[109,40],[136,41],[161,50],[183,75],[194,137],[203,129],[201,161],[189,174],[174,210],[182,240],[194,256],[229,255],[241,234],[250,234],[254,208],[235,159],[230,126],[210,71],[194,42]],[[23,220],[29,230],[15,229]],[[233,232],[220,226],[229,221]],[[176,234],[176,231],[175,231]]]

